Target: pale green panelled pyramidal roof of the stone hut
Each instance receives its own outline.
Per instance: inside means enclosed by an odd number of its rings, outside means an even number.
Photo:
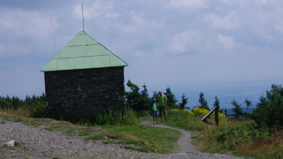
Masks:
[[[128,64],[81,31],[40,72],[117,66]]]

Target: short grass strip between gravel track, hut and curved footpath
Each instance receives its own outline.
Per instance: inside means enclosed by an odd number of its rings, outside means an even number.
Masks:
[[[14,122],[24,122],[26,125],[41,126],[45,130],[57,130],[65,132],[68,135],[86,136],[86,140],[102,140],[104,144],[123,144],[127,149],[150,153],[175,153],[180,148],[177,141],[181,133],[177,130],[164,129],[158,127],[131,125],[132,116],[125,125],[103,125],[103,126],[85,126],[74,125],[70,122],[52,120],[48,118],[29,118],[23,116],[9,116]],[[4,117],[4,118],[5,118]],[[146,117],[146,119],[151,119]],[[134,121],[134,120],[133,120]],[[134,121],[134,123],[137,120]],[[104,137],[107,136],[107,140]]]

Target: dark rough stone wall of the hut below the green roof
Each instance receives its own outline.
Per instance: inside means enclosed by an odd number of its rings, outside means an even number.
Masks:
[[[126,111],[124,67],[44,72],[47,114],[86,120],[109,110]]]

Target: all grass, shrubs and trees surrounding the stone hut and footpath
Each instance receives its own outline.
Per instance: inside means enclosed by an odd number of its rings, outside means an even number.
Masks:
[[[26,97],[26,100],[7,96],[0,97],[0,114],[3,119],[0,124],[5,124],[5,121],[9,120],[21,121],[47,130],[66,132],[69,135],[88,136],[86,141],[101,140],[105,144],[121,144],[121,147],[141,152],[177,152],[179,131],[139,125],[139,120],[152,120],[149,115],[150,98],[146,86],[143,86],[144,90],[140,93],[139,88],[130,81],[127,85],[131,87],[131,91],[126,93],[127,105],[130,107],[127,115],[119,111],[110,111],[98,115],[96,122],[93,123],[57,121],[43,118],[45,117],[44,94],[40,97]],[[153,92],[154,97],[156,93]],[[166,93],[171,98],[170,101],[177,102],[169,87]],[[194,107],[191,111],[184,110],[187,100],[188,98],[185,98],[183,94],[182,103],[179,105],[171,103],[167,111],[169,122],[162,124],[192,131],[198,136],[193,139],[193,143],[198,145],[200,151],[232,153],[245,158],[283,158],[283,88],[281,85],[272,85],[272,90],[266,91],[266,97],[262,94],[256,109],[251,113],[245,114],[241,109],[236,109],[238,104],[234,100],[231,102],[235,107],[233,118],[227,117],[226,109],[224,109],[226,115],[218,114],[219,126],[208,125],[201,121],[201,118],[209,111],[206,109],[207,102],[202,92],[200,106]],[[245,103],[247,107],[251,105],[248,99]],[[217,97],[215,97],[214,106],[221,110]],[[208,120],[213,122],[214,115],[210,115]],[[160,131],[166,131],[166,133],[161,135]]]

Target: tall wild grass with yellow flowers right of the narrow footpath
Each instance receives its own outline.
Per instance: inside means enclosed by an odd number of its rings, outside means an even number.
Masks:
[[[193,140],[200,151],[210,153],[233,153],[254,158],[283,158],[283,130],[270,132],[254,120],[229,121],[219,115],[219,126],[208,125],[201,118],[208,112],[201,108],[193,112],[168,110],[169,122],[164,124],[192,130],[198,138]],[[214,122],[214,115],[210,115]]]

